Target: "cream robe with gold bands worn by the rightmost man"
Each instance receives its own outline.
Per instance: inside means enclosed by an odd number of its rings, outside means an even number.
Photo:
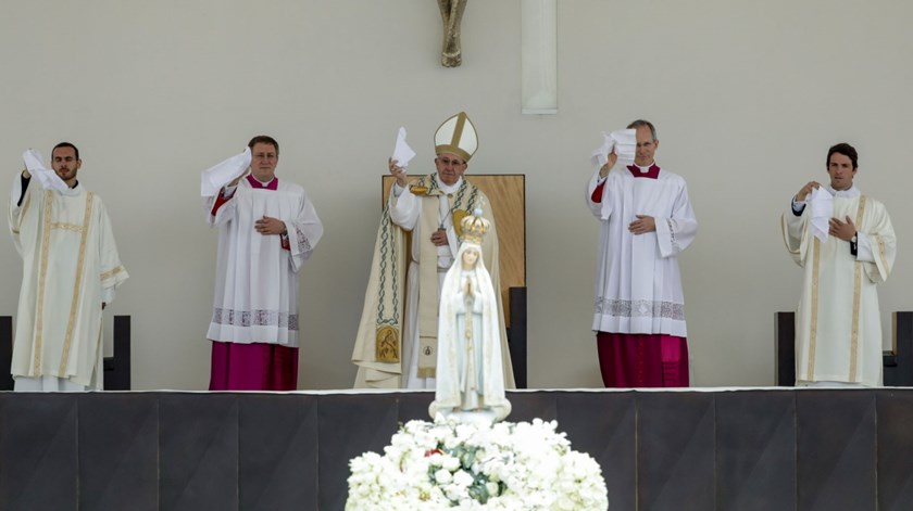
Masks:
[[[856,188],[835,192],[834,218],[850,217],[858,231],[856,255],[850,243],[812,234],[811,207],[783,215],[784,241],[804,268],[796,316],[797,382],[881,385],[881,317],[876,284],[887,280],[897,251],[884,204]]]

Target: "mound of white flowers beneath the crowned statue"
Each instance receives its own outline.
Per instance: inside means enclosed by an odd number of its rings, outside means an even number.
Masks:
[[[384,448],[350,461],[347,511],[604,511],[605,481],[558,423],[410,421]]]

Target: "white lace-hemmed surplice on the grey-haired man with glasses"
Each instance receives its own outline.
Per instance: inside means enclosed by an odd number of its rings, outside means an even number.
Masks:
[[[687,337],[678,254],[695,240],[698,221],[685,179],[655,165],[620,165],[604,180],[593,174],[586,200],[602,222],[592,330]],[[655,232],[633,234],[636,215],[653,217]]]

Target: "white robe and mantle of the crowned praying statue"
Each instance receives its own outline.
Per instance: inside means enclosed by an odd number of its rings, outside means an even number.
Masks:
[[[466,251],[475,251],[478,255],[470,269],[463,268],[462,264]],[[495,411],[495,420],[502,420],[511,410],[501,370],[499,332],[502,327],[498,304],[480,254],[479,245],[464,243],[456,254],[456,263],[443,279],[438,319],[437,385],[435,400],[428,408],[432,418],[437,413],[447,416],[490,409]],[[471,328],[467,329],[467,324]]]

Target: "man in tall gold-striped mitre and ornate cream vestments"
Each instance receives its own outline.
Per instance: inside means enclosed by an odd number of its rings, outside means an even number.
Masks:
[[[388,161],[396,183],[377,232],[352,353],[352,362],[359,366],[355,387],[435,388],[440,284],[460,248],[460,220],[476,208],[491,222],[483,257],[495,289],[500,289],[498,235],[490,202],[463,178],[477,146],[475,127],[461,112],[435,133],[435,174],[409,181],[399,162]],[[407,233],[411,233],[408,253]],[[500,324],[504,324],[501,295],[496,294]],[[501,347],[505,385],[513,387],[503,329]]]

